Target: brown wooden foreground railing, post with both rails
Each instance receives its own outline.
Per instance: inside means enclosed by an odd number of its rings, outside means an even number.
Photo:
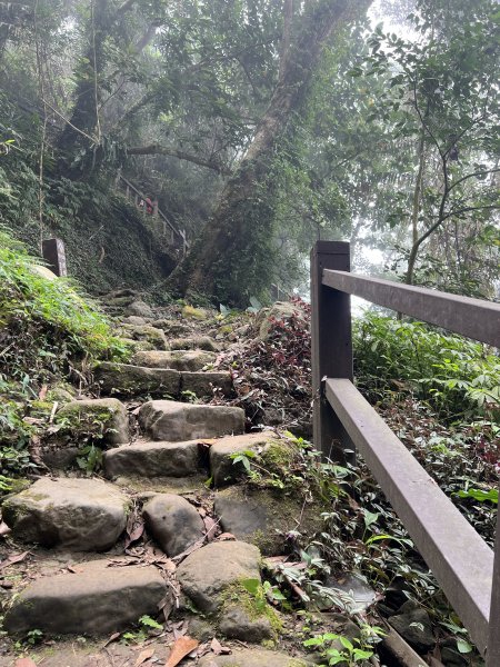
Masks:
[[[500,305],[350,273],[349,243],[311,252],[314,445],[359,450],[488,667],[500,667],[500,518],[496,551],[352,384],[350,296],[500,347]],[[500,515],[499,515],[500,516]]]

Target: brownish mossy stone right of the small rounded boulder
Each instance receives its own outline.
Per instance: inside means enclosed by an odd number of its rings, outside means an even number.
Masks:
[[[284,496],[270,489],[229,487],[216,494],[214,512],[222,530],[249,541],[264,556],[283,551],[286,535],[297,530],[312,537],[324,526],[318,502],[304,504],[300,494]]]

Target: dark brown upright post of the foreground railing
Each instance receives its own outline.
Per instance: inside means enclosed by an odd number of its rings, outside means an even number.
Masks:
[[[323,269],[349,271],[349,243],[317,241],[311,250],[313,442],[324,458],[346,462],[353,447],[324,397],[323,378],[353,378],[350,297],[322,285]]]

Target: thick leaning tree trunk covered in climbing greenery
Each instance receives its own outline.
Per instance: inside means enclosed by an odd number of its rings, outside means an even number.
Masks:
[[[190,252],[167,282],[183,295],[206,295],[232,306],[269,287],[273,276],[273,158],[302,107],[321,51],[333,30],[361,18],[372,0],[313,0],[288,19],[280,74],[268,110],[216,209]],[[296,6],[298,2],[294,3]],[[293,2],[286,2],[286,12]],[[291,9],[290,9],[291,8]],[[287,27],[288,26],[288,27]]]

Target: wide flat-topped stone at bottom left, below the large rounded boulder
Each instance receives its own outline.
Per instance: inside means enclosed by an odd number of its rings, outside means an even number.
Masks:
[[[13,601],[8,633],[104,635],[140,616],[158,613],[167,586],[152,566],[108,567],[108,560],[76,565],[74,573],[40,577]]]

